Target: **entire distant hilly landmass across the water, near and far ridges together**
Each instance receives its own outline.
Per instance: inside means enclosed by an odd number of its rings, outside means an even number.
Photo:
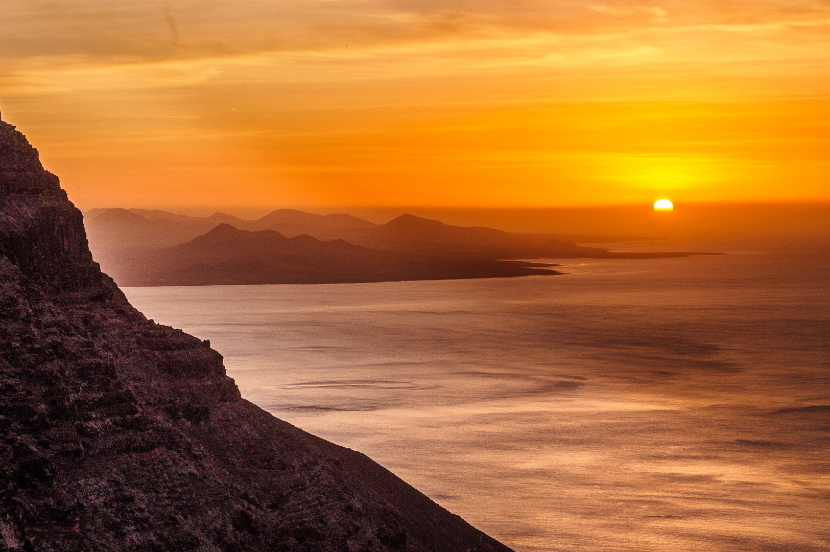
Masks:
[[[383,225],[348,214],[280,209],[256,221],[221,212],[101,209],[85,227],[95,259],[122,286],[324,284],[554,276],[527,259],[662,258],[611,252],[554,234],[457,227],[404,214]],[[619,238],[618,238],[619,239]]]

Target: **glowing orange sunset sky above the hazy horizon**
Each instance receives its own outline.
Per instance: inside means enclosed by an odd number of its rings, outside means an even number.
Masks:
[[[76,204],[830,200],[819,0],[5,0]]]

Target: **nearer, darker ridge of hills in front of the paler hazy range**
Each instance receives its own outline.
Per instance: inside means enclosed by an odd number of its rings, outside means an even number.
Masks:
[[[553,275],[552,265],[380,252],[344,240],[287,238],[221,224],[190,242],[131,253],[113,275],[124,286],[325,284]]]

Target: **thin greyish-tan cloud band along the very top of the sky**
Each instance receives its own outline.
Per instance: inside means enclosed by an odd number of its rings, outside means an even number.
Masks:
[[[701,26],[798,24],[830,17],[819,0],[178,0],[176,18],[168,0],[9,0],[4,2],[0,56],[140,56],[154,58],[182,49],[188,56],[227,56],[260,51],[320,48],[422,46],[432,42],[595,37],[655,42],[642,37],[655,23],[681,34]],[[168,24],[162,36],[159,8]],[[612,17],[609,17],[612,16]],[[671,20],[671,21],[670,21]],[[550,38],[549,37],[549,38]],[[779,37],[792,44],[790,37]],[[727,53],[727,52],[722,52]]]

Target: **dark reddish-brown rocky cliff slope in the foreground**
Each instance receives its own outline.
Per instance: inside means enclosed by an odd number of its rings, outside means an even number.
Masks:
[[[2,122],[0,325],[0,550],[509,550],[146,320]]]

